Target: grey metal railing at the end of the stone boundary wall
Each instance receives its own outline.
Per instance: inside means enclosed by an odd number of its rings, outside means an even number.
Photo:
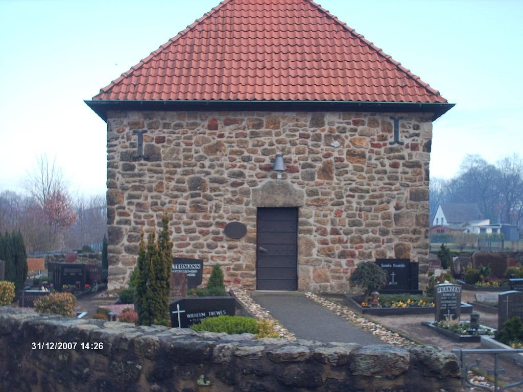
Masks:
[[[479,349],[479,350],[452,350],[452,353],[456,354],[460,360],[461,363],[461,386],[471,386],[474,388],[480,388],[489,390],[492,392],[503,392],[504,390],[517,387],[518,385],[523,384],[523,378],[521,378],[519,381],[511,384],[506,384],[502,387],[499,387],[499,375],[505,373],[504,368],[499,367],[499,355],[504,354],[518,354],[523,353],[523,349],[514,349],[514,350],[495,350],[495,349]],[[476,359],[474,363],[467,365],[467,354],[493,354],[494,355],[494,368],[493,369],[487,369],[487,374],[494,375],[494,386],[486,386],[481,384],[474,384],[469,381],[467,374],[470,370],[472,370],[473,367],[479,367],[481,364],[480,359]],[[516,359],[514,359],[514,363],[520,364],[517,362]],[[521,389],[519,389],[521,390]]]

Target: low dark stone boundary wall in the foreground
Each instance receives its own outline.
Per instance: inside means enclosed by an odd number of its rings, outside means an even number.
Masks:
[[[33,342],[77,345],[31,349]],[[460,390],[456,356],[433,347],[256,340],[10,306],[0,308],[0,369],[0,390],[10,392]]]

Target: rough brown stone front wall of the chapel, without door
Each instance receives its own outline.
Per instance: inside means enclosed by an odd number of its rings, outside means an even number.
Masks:
[[[392,116],[403,118],[403,145],[391,144]],[[148,160],[133,157],[142,130]],[[430,113],[109,112],[109,287],[123,285],[142,229],[158,227],[166,211],[175,256],[204,260],[206,275],[220,263],[226,283],[254,289],[255,193],[275,181],[304,195],[300,290],[346,291],[358,263],[376,258],[408,258],[423,273],[431,136]],[[247,226],[244,238],[224,235],[231,221]]]

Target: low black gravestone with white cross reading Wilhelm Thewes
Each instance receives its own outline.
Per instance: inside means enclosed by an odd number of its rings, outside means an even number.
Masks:
[[[169,304],[173,328],[188,328],[206,317],[234,316],[233,297],[182,298]]]

